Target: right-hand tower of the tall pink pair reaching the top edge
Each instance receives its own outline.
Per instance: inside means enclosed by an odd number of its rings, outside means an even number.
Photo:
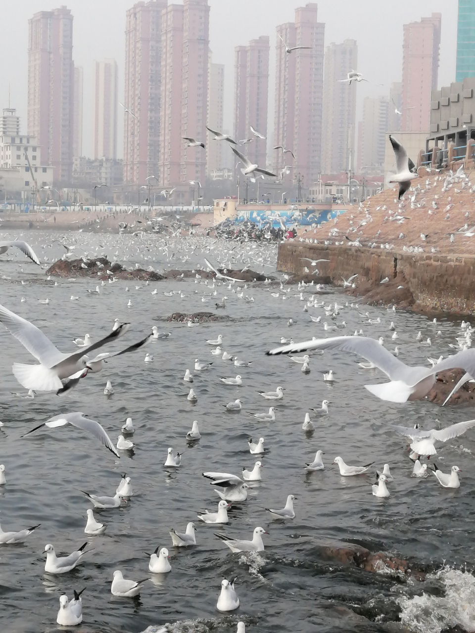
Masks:
[[[206,151],[182,137],[207,141],[209,17],[208,0],[184,0],[163,12],[159,172],[165,187],[206,177]]]

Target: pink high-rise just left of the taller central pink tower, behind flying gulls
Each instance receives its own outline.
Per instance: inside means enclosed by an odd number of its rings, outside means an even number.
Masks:
[[[251,126],[267,138],[269,50],[269,36],[261,35],[248,46],[236,47],[234,64],[234,140],[252,139],[244,154],[264,168],[267,142],[253,135]]]

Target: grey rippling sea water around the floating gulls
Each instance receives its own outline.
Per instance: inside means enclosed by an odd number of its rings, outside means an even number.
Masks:
[[[28,234],[28,239],[36,247],[45,235]],[[90,239],[102,244],[106,240],[115,249],[125,237]],[[436,461],[442,470],[450,470],[453,464],[462,470],[461,486],[454,491],[441,488],[433,475],[426,480],[411,478],[405,441],[390,429],[391,424],[409,426],[416,421],[426,428],[436,420],[441,425],[460,422],[473,417],[471,407],[379,401],[362,385],[382,382],[381,372],[362,370],[354,356],[343,353],[312,356],[309,375],[303,375],[301,366],[289,358],[265,356],[264,351],[276,346],[281,335],[291,335],[295,341],[324,335],[323,325],[310,322],[303,313],[304,302],[296,287],[286,301],[270,296],[263,284],[249,287],[245,294],[255,298],[249,304],[220,285],[217,299],[224,294],[229,297],[226,313],[231,321],[188,328],[164,319],[175,311],[208,309],[201,302],[206,287],[193,279],[141,284],[138,290],[135,284],[118,281],[106,285],[97,296],[86,292],[95,287],[95,280],[58,280],[54,287],[54,280],[48,282],[44,271],[24,263],[21,256],[15,255],[14,261],[9,256],[0,258],[0,272],[11,278],[1,280],[0,303],[32,320],[61,351],[73,351],[72,338],[85,332],[97,340],[110,330],[114,318],[132,323],[127,336],[115,345],[117,349],[141,339],[152,325],[172,335],[149,345],[146,351],[155,356],[153,363],[143,362],[143,350],[121,356],[62,398],[47,393],[31,400],[12,394],[24,391],[11,374],[11,363],[29,363],[32,358],[0,325],[0,419],[5,424],[0,430],[0,462],[6,466],[8,480],[0,489],[1,524],[4,530],[16,530],[41,523],[24,544],[0,548],[2,632],[55,630],[60,594],[72,596],[73,589],[83,587],[84,622],[76,630],[90,633],[139,633],[148,627],[157,630],[166,622],[177,622],[171,629],[176,632],[234,632],[239,620],[246,622],[250,633],[435,633],[456,624],[475,630],[474,578],[469,573],[475,553],[475,434],[469,431],[438,448]],[[198,249],[194,261],[202,258]],[[30,283],[22,285],[21,280]],[[125,292],[126,285],[130,292]],[[158,294],[152,295],[155,287]],[[184,297],[163,295],[172,289],[181,289]],[[80,300],[70,301],[72,294]],[[304,292],[305,297],[309,294]],[[20,303],[22,296],[25,303]],[[51,299],[48,305],[38,303],[37,299],[46,297]],[[131,308],[127,308],[129,298]],[[341,293],[324,298],[346,302]],[[366,311],[372,318],[380,316],[381,323],[369,325],[360,315]],[[319,315],[323,310],[310,313]],[[293,327],[287,325],[289,318],[295,321]],[[339,329],[342,334],[361,327],[366,335],[386,337],[388,349],[394,347],[388,327],[395,320],[400,358],[413,364],[424,364],[428,355],[447,355],[448,343],[459,332],[459,324],[449,320],[434,327],[424,316],[393,315],[367,306],[343,308],[336,322],[343,320],[347,327]],[[419,329],[432,337],[431,348],[415,343]],[[435,336],[438,329],[440,337]],[[250,368],[239,368],[240,387],[219,382],[220,376],[238,371],[232,363],[211,356],[205,339],[218,334],[224,335],[223,348],[229,353],[253,361]],[[214,362],[210,372],[194,372],[196,405],[187,402],[189,385],[182,380],[186,368],[193,373],[194,358]],[[334,385],[322,380],[322,372],[329,368],[336,373]],[[108,379],[115,388],[111,398],[103,395]],[[279,384],[286,392],[276,422],[253,421],[246,411],[265,411],[269,406],[257,391]],[[222,404],[236,398],[243,401],[243,411],[226,413]],[[329,415],[315,422],[312,434],[306,434],[301,429],[305,412],[324,398],[331,401]],[[101,422],[113,441],[125,418],[132,417],[134,453],[124,453],[117,460],[92,437],[72,427],[39,430],[20,438],[52,415],[77,410]],[[193,420],[198,420],[202,437],[187,446],[185,436]],[[214,536],[217,530],[198,520],[197,546],[174,549],[169,527],[184,530],[187,522],[196,519],[196,511],[215,511],[219,501],[201,472],[224,470],[240,475],[244,465],[250,467],[255,461],[248,452],[248,437],[260,436],[267,447],[263,480],[252,487],[248,501],[232,508],[229,526],[219,531],[250,538],[253,529],[262,525],[269,531],[264,536],[265,551],[232,554]],[[163,468],[168,446],[184,453],[182,466],[175,472]],[[317,449],[325,453],[326,470],[306,474],[303,466]],[[376,461],[383,467],[390,463],[395,477],[390,498],[382,501],[372,496],[371,477],[340,477],[331,464],[337,455],[350,464]],[[114,494],[123,472],[132,478],[136,495],[120,509],[95,510],[108,529],[103,536],[86,537],[85,513],[91,504],[80,490]],[[282,507],[290,493],[297,497],[295,520],[270,521],[260,506]],[[58,553],[70,553],[85,541],[91,551],[77,569],[62,576],[44,573],[41,552],[46,543],[53,543]],[[399,579],[384,568],[371,573],[323,558],[320,546],[338,543],[362,544],[371,551],[397,555],[414,568],[428,571],[428,579]],[[172,572],[165,577],[148,572],[144,552],[157,546],[170,551]],[[135,580],[150,577],[139,600],[111,596],[115,569]],[[220,582],[234,575],[241,606],[223,615],[216,609]]]

